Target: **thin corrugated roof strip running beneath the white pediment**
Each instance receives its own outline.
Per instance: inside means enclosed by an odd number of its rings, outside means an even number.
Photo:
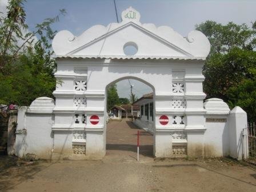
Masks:
[[[173,59],[173,60],[205,60],[205,57],[173,57],[173,56],[148,56],[148,55],[57,55],[55,58],[62,59]]]

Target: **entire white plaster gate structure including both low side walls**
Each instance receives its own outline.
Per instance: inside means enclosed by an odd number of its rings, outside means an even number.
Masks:
[[[35,99],[26,113],[19,111],[18,129],[24,127],[27,134],[17,136],[15,154],[103,158],[106,87],[129,78],[153,90],[154,121],[149,123],[156,157],[173,157],[187,149],[191,157],[241,158],[239,135],[246,125],[244,111],[235,108],[229,115],[227,104],[216,98],[203,104],[202,67],[210,51],[208,39],[199,31],[183,38],[170,27],[142,24],[139,18],[138,11],[130,7],[122,13],[121,23],[96,25],[79,37],[66,30],[55,35],[55,78],[62,81],[53,92],[56,105],[53,99],[42,97]],[[136,45],[138,52],[125,55],[126,43]],[[86,99],[86,104],[77,106],[77,98]],[[179,105],[178,101],[184,103]],[[90,122],[92,115],[99,117],[97,125]],[[161,115],[169,118],[167,125],[159,123]],[[206,122],[206,118],[227,118],[227,122]]]

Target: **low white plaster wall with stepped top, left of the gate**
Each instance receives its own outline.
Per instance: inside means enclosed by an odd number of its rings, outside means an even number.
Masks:
[[[18,109],[15,155],[25,157],[26,154],[33,154],[35,158],[51,158],[54,106],[53,99],[41,97],[35,99],[28,109]]]

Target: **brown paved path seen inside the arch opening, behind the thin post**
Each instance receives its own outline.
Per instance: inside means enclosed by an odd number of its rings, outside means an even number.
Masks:
[[[116,157],[120,161],[136,161],[137,159],[137,131],[140,131],[140,159],[141,161],[153,161],[153,135],[139,129],[129,119],[111,121],[107,125],[106,157]],[[110,157],[111,156],[111,157]]]

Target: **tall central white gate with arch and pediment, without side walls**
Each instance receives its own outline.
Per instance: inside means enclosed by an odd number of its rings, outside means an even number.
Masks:
[[[55,35],[55,77],[62,82],[53,93],[55,154],[105,156],[106,87],[125,78],[154,90],[156,157],[203,154],[202,67],[210,43],[199,31],[183,38],[170,27],[142,24],[140,17],[130,7],[122,12],[121,23],[96,25],[79,37],[66,30]]]

